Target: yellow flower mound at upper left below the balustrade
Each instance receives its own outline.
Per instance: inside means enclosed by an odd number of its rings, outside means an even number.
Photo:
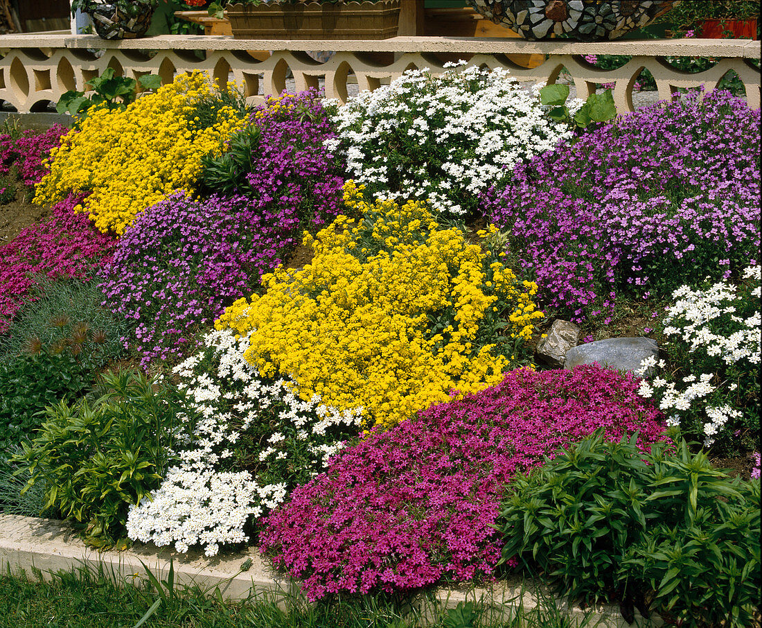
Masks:
[[[198,103],[213,97],[202,72],[138,98],[125,111],[100,108],[70,131],[50,154],[50,172],[35,203],[56,203],[71,191],[91,191],[82,207],[101,232],[122,235],[135,216],[174,191],[190,192],[201,158],[219,153],[244,117],[223,106],[214,123],[194,127]]]

